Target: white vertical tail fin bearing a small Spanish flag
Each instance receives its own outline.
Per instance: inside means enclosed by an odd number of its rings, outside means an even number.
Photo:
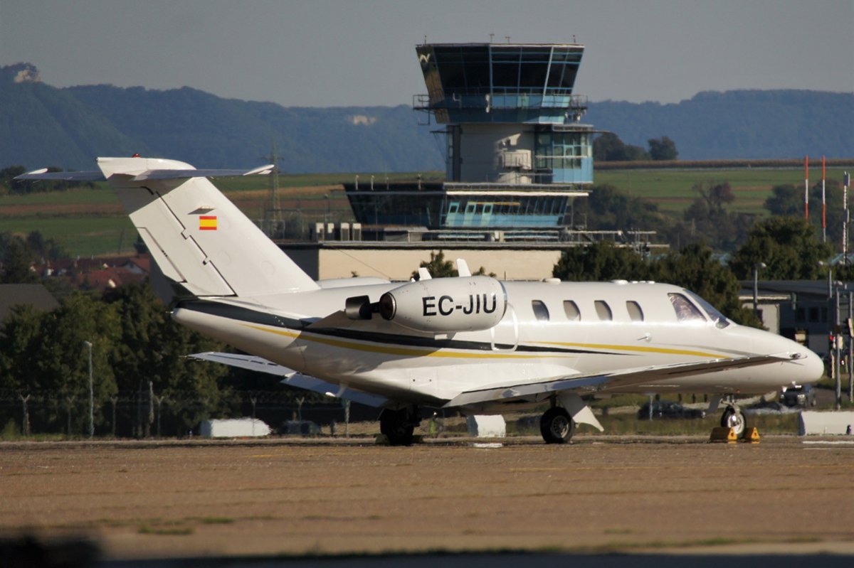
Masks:
[[[98,166],[163,275],[188,293],[254,297],[318,287],[207,177],[193,177],[191,165],[99,158]]]

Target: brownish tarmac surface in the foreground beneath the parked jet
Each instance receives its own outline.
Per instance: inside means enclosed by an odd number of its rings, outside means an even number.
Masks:
[[[483,442],[0,443],[0,553],[854,555],[854,438]]]

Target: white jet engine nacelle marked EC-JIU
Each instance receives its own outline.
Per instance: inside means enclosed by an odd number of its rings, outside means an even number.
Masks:
[[[504,317],[507,294],[489,276],[432,278],[410,282],[379,298],[379,315],[426,333],[479,331]]]

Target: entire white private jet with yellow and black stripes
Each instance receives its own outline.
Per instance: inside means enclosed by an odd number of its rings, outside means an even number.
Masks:
[[[815,382],[821,359],[774,333],[729,322],[687,290],[651,282],[516,282],[471,275],[313,281],[208,177],[166,159],[99,158],[101,171],[21,179],[106,179],[178,293],[173,318],[249,355],[199,354],[284,383],[381,408],[407,444],[421,409],[500,414],[542,404],[547,443],[577,423],[602,430],[583,395],[735,395]]]

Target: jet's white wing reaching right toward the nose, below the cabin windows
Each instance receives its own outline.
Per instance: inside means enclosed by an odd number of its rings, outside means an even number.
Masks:
[[[757,355],[741,356],[728,359],[709,359],[700,362],[675,363],[620,369],[613,373],[576,374],[553,379],[541,380],[535,383],[520,383],[508,385],[491,385],[487,388],[465,391],[454,397],[444,408],[477,406],[488,403],[511,403],[520,399],[544,400],[552,393],[563,391],[595,392],[614,389],[623,386],[642,388],[656,386],[661,381],[672,381],[689,375],[716,373],[733,368],[752,367],[774,362],[795,360],[793,356]],[[672,385],[672,382],[671,382]]]

